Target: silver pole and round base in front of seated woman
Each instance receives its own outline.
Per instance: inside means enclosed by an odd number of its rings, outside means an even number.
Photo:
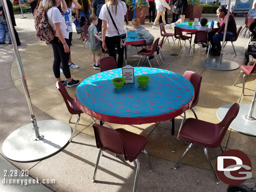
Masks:
[[[222,60],[223,57],[223,49],[225,45],[225,40],[226,40],[226,33],[227,33],[227,25],[228,25],[228,18],[230,14],[230,5],[231,5],[231,0],[228,2],[228,10],[227,10],[227,18],[226,18],[226,24],[225,24],[225,29],[224,29],[224,36],[222,40],[222,48],[219,56],[219,60],[217,59],[209,59],[209,60],[204,60],[202,62],[202,65],[206,68],[213,69],[213,70],[222,70],[222,71],[227,71],[227,70],[235,70],[239,68],[238,63],[230,61],[230,60]]]

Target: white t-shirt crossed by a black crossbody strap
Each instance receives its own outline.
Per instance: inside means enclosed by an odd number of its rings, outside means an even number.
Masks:
[[[107,33],[106,36],[111,37],[111,36],[118,36],[118,31],[115,29],[115,26],[113,25],[113,22],[110,18],[110,14],[108,13],[107,6],[110,9],[111,16],[113,20],[115,21],[115,25],[118,28],[119,34],[122,35],[124,34],[124,27],[123,23],[125,21],[125,14],[127,11],[126,5],[123,1],[118,0],[118,8],[117,8],[117,13],[115,15],[115,5],[109,5],[109,3],[104,4],[100,10],[99,13],[99,18],[101,20],[107,21]],[[113,6],[113,11],[112,11],[112,6]]]

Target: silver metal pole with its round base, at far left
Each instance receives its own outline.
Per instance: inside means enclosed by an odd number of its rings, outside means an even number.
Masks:
[[[13,24],[10,18],[6,0],[3,0],[3,10],[10,31],[10,37],[18,64],[18,70],[21,75],[26,101],[29,106],[32,124],[30,123],[24,125],[23,127],[20,127],[16,131],[12,132],[5,139],[2,150],[4,155],[13,161],[36,161],[61,150],[69,141],[71,136],[71,128],[64,122],[57,120],[43,120],[37,122],[32,109],[29,89],[26,83],[26,77],[22,67],[21,57],[18,52]],[[43,135],[39,134],[39,127],[40,132]]]

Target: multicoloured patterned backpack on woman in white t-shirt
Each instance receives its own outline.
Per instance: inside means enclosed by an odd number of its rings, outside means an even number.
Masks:
[[[43,42],[49,42],[54,39],[54,33],[44,17],[44,12],[40,11],[34,18],[37,38]]]

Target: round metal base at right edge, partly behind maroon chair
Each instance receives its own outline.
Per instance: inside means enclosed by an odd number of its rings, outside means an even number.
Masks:
[[[232,106],[232,104],[227,104],[219,107],[217,110],[217,117],[220,121],[225,117],[228,109]],[[256,136],[256,120],[247,120],[244,116],[248,114],[250,105],[248,104],[239,104],[240,109],[238,112],[238,116],[232,121],[230,124],[230,128],[237,132]]]

